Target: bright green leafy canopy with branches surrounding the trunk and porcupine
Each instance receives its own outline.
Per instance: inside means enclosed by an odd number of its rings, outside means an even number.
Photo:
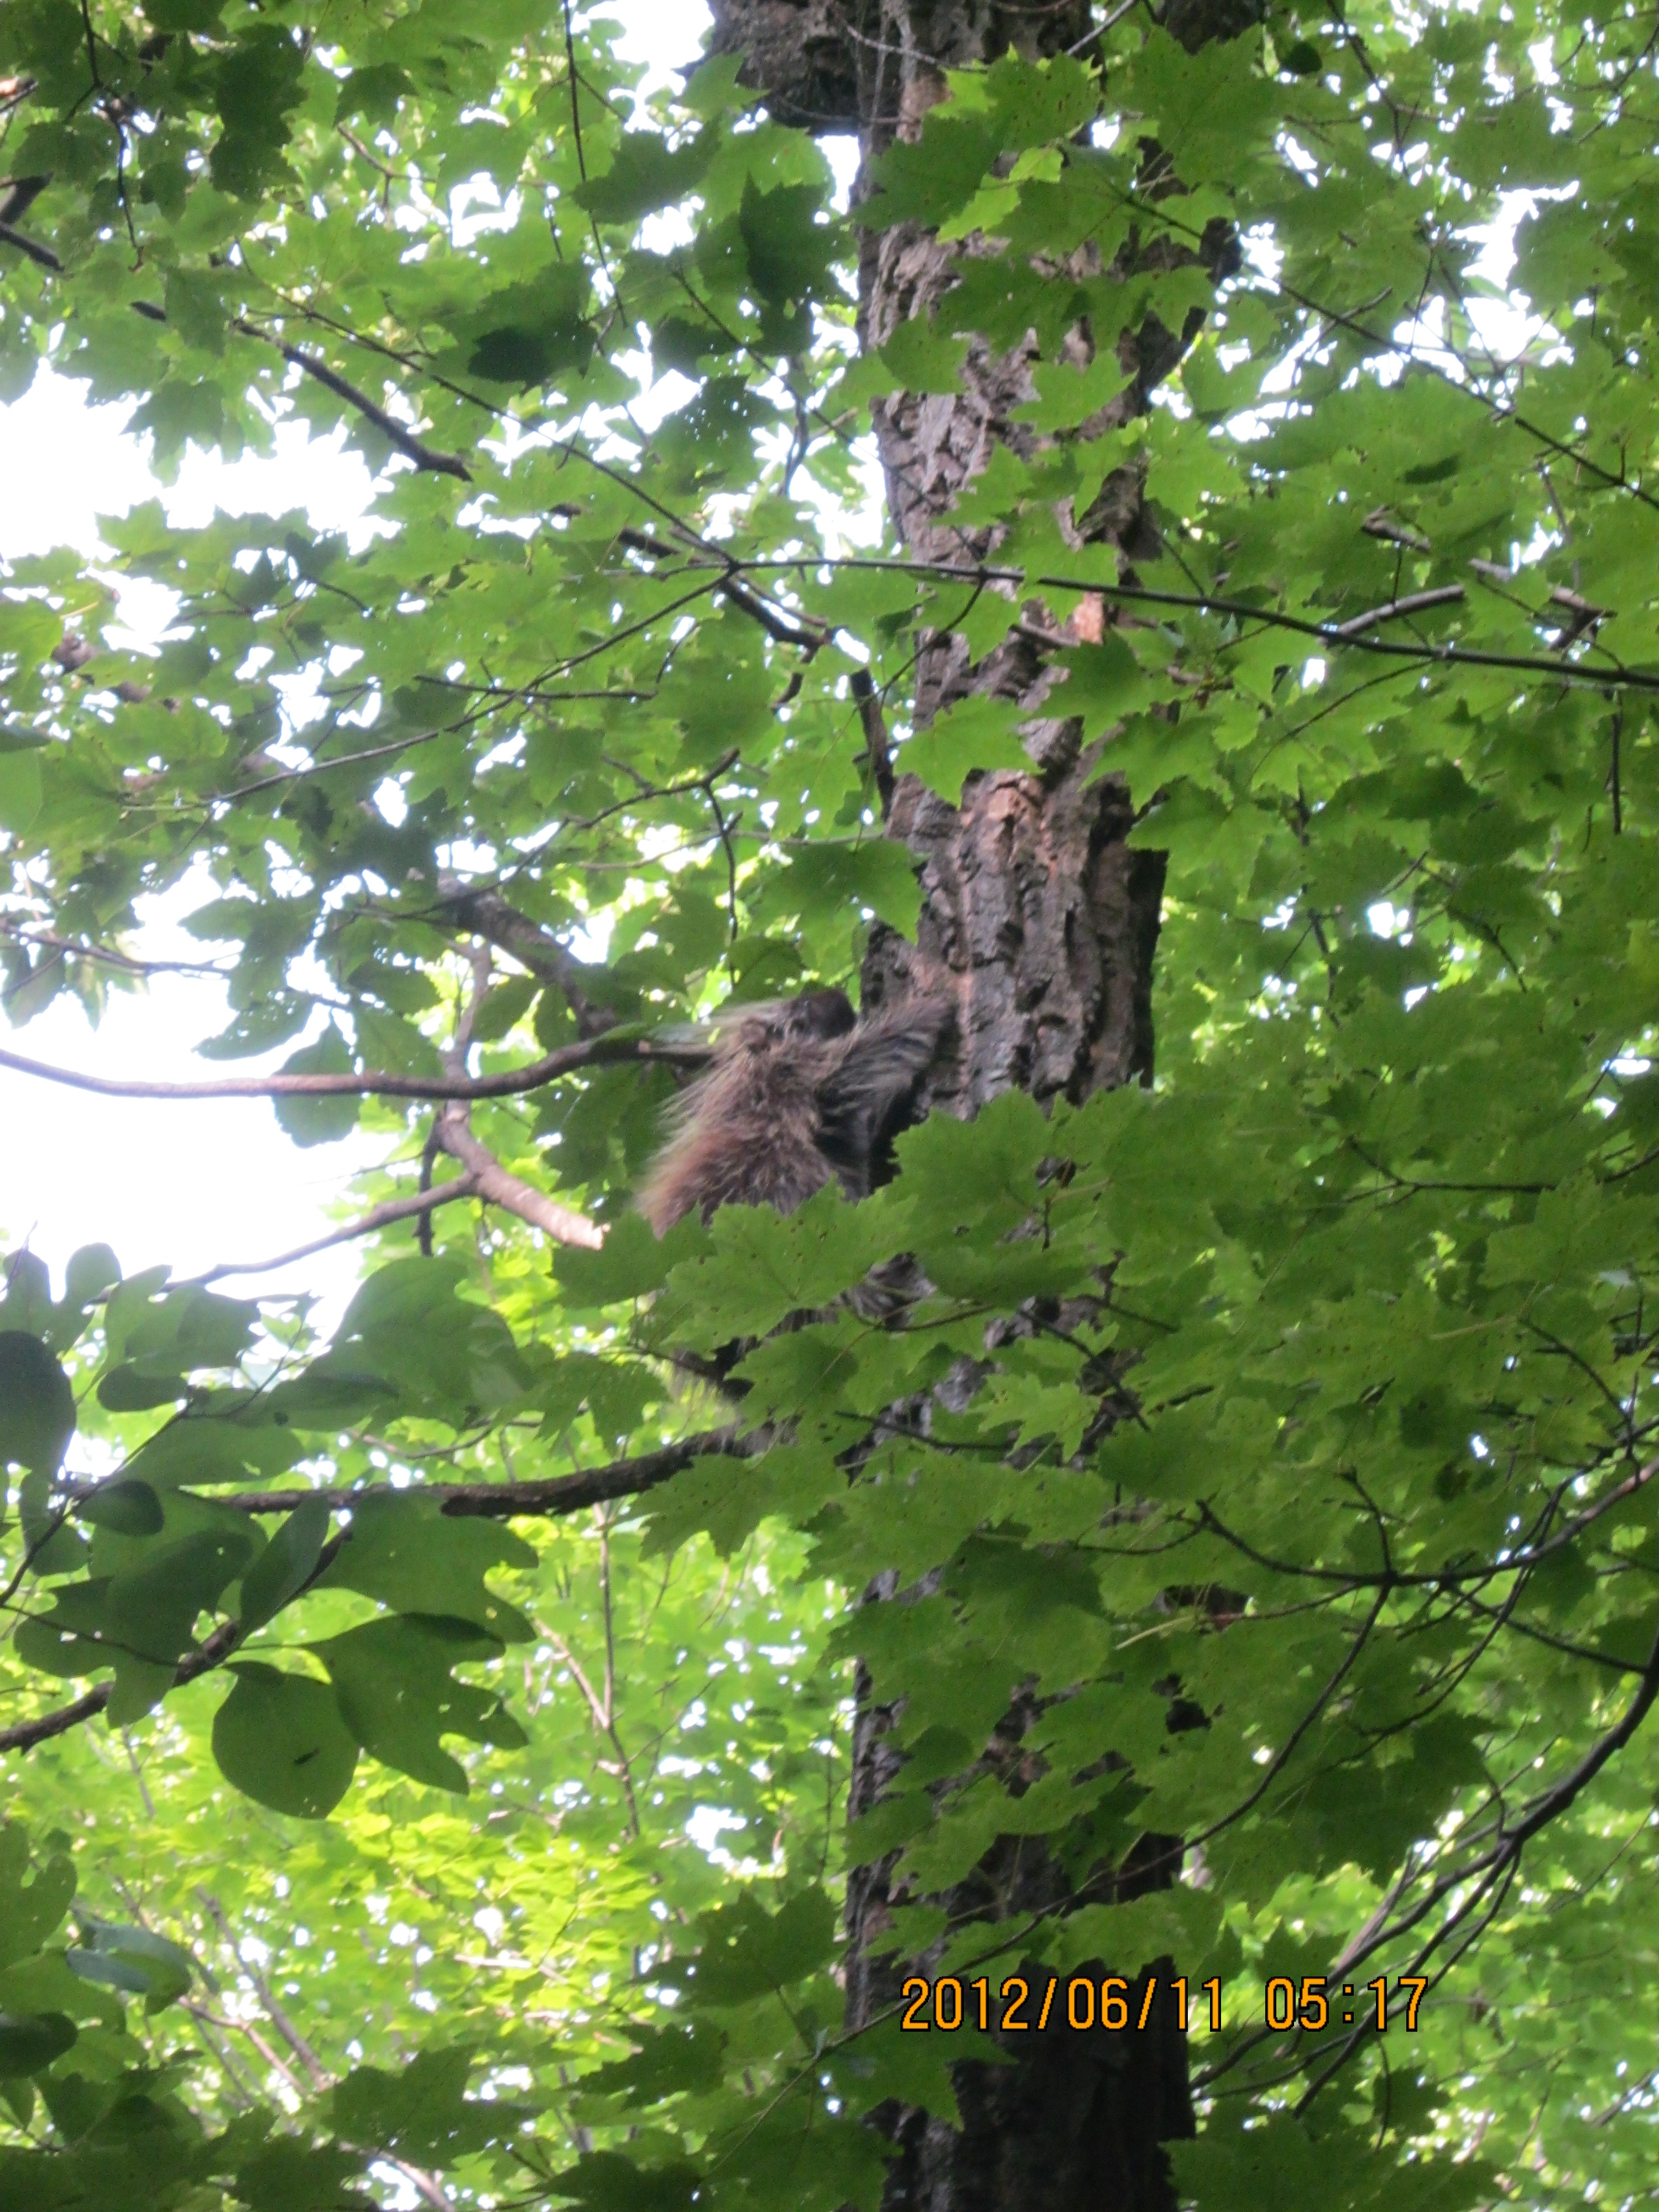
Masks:
[[[1203,2208],[1648,2194],[1652,18],[1115,9],[956,73],[852,212],[730,60],[641,97],[520,0],[0,24],[0,392],[131,400],[161,476],[290,414],[378,469],[352,538],[150,504],[0,573],[7,1011],[97,1018],[186,887],[201,1084],[363,1119],[392,1208],[330,1340],[11,1254],[9,2212],[874,2203],[865,2115],[949,2117],[971,2042],[841,2028],[889,1849],[942,1973],[1221,1978]],[[894,223],[958,283],[860,352]],[[1183,349],[1102,429],[1150,316]],[[971,345],[1031,396],[929,568],[860,440]],[[1133,571],[1075,529],[1124,469]],[[860,690],[953,803],[1020,714],[914,726],[918,637],[1015,619],[1168,854],[1157,1082],[659,1245],[686,1024],[914,927]],[[896,1254],[907,1327],[832,1305]],[[732,1338],[734,1418],[666,1358]],[[885,1571],[940,1573],[858,1608]],[[849,1832],[854,1657],[909,1763]],[[1186,1874],[945,1929],[1009,1834]],[[1270,2033],[1270,1975],[1360,2024]]]

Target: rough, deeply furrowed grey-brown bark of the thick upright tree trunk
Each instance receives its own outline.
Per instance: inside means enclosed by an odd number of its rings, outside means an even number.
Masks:
[[[916,137],[927,108],[945,97],[947,69],[991,62],[1011,46],[1029,58],[1084,53],[1095,35],[1088,0],[712,0],[712,13],[714,51],[743,58],[745,82],[765,93],[779,119],[858,135],[856,201],[867,192],[872,161],[894,137]],[[1261,18],[1259,0],[1166,0],[1159,13],[1188,51]],[[929,312],[971,250],[971,243],[945,246],[916,223],[867,230],[860,343],[878,347],[900,323]],[[1219,232],[1206,234],[1199,257],[1221,274],[1230,252],[1230,237]],[[1119,356],[1133,374],[1130,387],[1097,422],[1084,425],[1084,436],[1141,409],[1190,338],[1192,327],[1172,334],[1157,321],[1124,334]],[[1079,332],[1075,343],[1086,358],[1088,336]],[[958,392],[900,392],[876,403],[889,513],[916,557],[971,568],[991,551],[984,535],[951,522],[951,509],[998,445],[1031,445],[1033,431],[1013,422],[1013,409],[1035,396],[1033,354],[1035,345],[995,354],[975,341]],[[1133,471],[1108,476],[1075,526],[1077,542],[1115,544],[1124,566],[1144,555],[1148,524],[1139,491]],[[878,933],[865,962],[867,1004],[916,989],[956,1000],[956,1053],[929,1082],[929,1104],[956,1115],[1015,1086],[1037,1099],[1082,1099],[1113,1084],[1148,1082],[1152,1068],[1161,860],[1126,843],[1133,803],[1121,779],[1102,776],[1097,750],[1079,743],[1077,723],[1053,719],[1064,695],[1048,701],[1040,639],[1051,624],[1042,608],[1026,608],[1035,619],[1015,628],[1020,613],[1011,604],[1009,637],[978,664],[969,664],[960,637],[920,639],[916,719],[927,721],[969,692],[1013,699],[1031,714],[1033,765],[975,776],[960,807],[914,776],[896,779],[887,827],[920,863],[918,942]],[[1106,619],[1099,602],[1084,602],[1079,615],[1075,635],[1091,635],[1095,624],[1099,637],[1097,624]],[[1018,1790],[1029,1714],[1018,1688],[1011,1690],[1013,1708],[984,1763],[1002,1767]],[[854,1814],[883,1794],[898,1765],[889,1728],[891,1712],[865,1694],[854,1739]],[[1152,1880],[1170,1878],[1168,1860],[1164,1854]],[[891,1860],[883,1860],[849,1878],[852,2026],[889,2006],[907,1971],[880,1951],[891,1871]],[[1148,1887],[1148,1878],[1137,1882],[1126,1869],[1115,1882],[1097,1876],[1088,1902],[1137,1887]],[[1064,1911],[1084,1896],[1051,1851],[1031,1838],[1004,1838],[973,1880],[938,1902],[958,1922],[1006,1922]],[[1077,1962],[1077,1971],[1088,1969],[1091,1962]],[[1106,1971],[1093,1962],[1095,1978]],[[1128,1971],[1128,1962],[1113,1971]],[[1139,2015],[1139,1989],[1133,2002]],[[1082,2212],[1084,2205],[1172,2212],[1161,2143],[1192,2132],[1186,2039],[1172,2011],[1155,2004],[1146,2035],[1075,2035],[1055,2026],[1002,2042],[1013,2064],[967,2062],[956,2070],[962,2128],[914,2108],[891,2106],[880,2115],[898,2152],[887,2212]]]

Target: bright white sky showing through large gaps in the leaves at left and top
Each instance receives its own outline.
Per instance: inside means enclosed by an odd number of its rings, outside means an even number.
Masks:
[[[611,13],[628,27],[622,53],[648,62],[653,77],[690,62],[708,29],[701,0],[619,0]],[[95,553],[100,515],[122,515],[157,493],[179,526],[206,522],[215,507],[283,513],[299,504],[319,529],[341,529],[369,500],[363,460],[334,440],[307,442],[299,425],[279,429],[272,460],[221,467],[192,451],[170,489],[155,482],[139,440],[122,425],[124,409],[88,407],[82,385],[44,369],[24,398],[0,407],[0,560],[55,544]],[[177,916],[155,916],[153,929],[148,953],[201,958],[204,947],[177,929]],[[75,1000],[60,998],[22,1031],[0,1024],[0,1044],[100,1075],[161,1079],[274,1066],[292,1051],[283,1046],[263,1062],[197,1062],[195,1042],[226,1020],[217,984],[159,975],[142,995],[119,993],[97,1029]],[[111,1102],[7,1068],[0,1128],[0,1248],[29,1239],[55,1287],[64,1261],[84,1243],[113,1245],[128,1274],[168,1263],[175,1276],[292,1250],[334,1225],[347,1177],[383,1150],[363,1137],[299,1150],[263,1099]],[[283,1276],[261,1276],[259,1287],[316,1290],[325,1310],[338,1310],[354,1274],[347,1245]],[[230,1294],[252,1287],[254,1279],[221,1285]]]

